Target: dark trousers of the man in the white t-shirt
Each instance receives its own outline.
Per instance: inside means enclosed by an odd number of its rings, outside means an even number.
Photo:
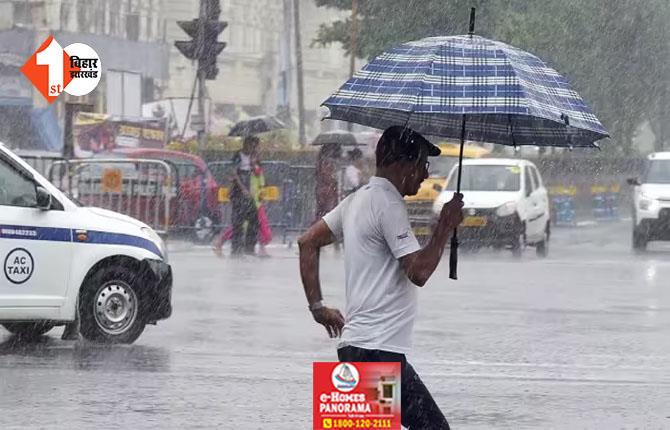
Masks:
[[[447,419],[404,354],[346,346],[337,350],[340,361],[400,363],[402,425],[409,430],[448,430]]]

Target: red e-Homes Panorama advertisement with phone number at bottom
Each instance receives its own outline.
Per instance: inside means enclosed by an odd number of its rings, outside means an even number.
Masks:
[[[313,363],[314,425],[400,430],[400,363]]]

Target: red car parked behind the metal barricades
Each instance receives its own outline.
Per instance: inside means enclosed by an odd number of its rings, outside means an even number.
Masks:
[[[189,231],[193,238],[206,242],[222,222],[219,186],[205,161],[185,152],[153,148],[121,148],[100,153],[99,158],[155,159],[173,165],[179,176],[179,191],[171,206],[170,224],[174,229]]]

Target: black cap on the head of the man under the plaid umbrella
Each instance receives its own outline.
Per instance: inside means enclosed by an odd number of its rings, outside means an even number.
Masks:
[[[421,148],[428,151],[430,157],[440,155],[440,148],[433,145],[420,133],[408,127],[394,125],[386,130],[377,142],[377,165],[388,165],[401,159],[418,159]]]

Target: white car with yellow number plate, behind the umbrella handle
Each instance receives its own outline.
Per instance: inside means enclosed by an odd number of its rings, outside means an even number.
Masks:
[[[437,216],[456,190],[458,166],[433,205]],[[547,189],[533,163],[482,158],[463,161],[461,192],[464,220],[459,242],[466,246],[509,248],[515,256],[534,246],[537,255],[549,250],[550,213]]]

